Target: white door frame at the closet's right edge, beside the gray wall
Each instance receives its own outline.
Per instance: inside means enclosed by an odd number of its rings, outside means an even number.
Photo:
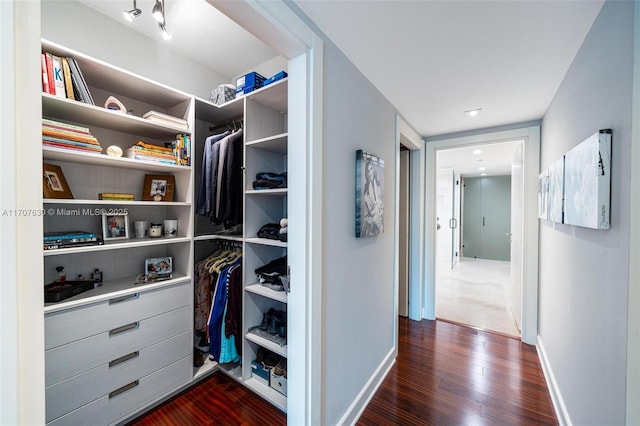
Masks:
[[[287,421],[324,424],[322,399],[323,42],[284,1],[208,0],[289,61]],[[313,224],[313,226],[311,226]]]

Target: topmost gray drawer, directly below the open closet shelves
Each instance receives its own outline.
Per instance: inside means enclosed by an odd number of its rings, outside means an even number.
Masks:
[[[189,282],[185,282],[48,314],[45,349],[187,306],[193,298],[189,289]]]

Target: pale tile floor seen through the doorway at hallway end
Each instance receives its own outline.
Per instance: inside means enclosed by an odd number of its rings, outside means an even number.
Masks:
[[[509,274],[510,262],[497,260],[462,258],[453,269],[438,265],[436,317],[519,337]]]

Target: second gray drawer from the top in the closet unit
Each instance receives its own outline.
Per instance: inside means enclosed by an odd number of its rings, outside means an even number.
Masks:
[[[45,351],[45,386],[191,330],[184,307]],[[190,345],[191,346],[191,345]]]

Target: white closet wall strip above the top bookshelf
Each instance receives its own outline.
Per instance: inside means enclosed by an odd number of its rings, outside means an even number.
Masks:
[[[203,99],[219,84],[231,83],[231,76],[73,0],[42,0],[42,37]]]

